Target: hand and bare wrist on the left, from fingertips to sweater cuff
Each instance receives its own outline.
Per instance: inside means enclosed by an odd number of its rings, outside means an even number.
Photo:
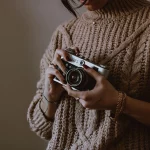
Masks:
[[[44,96],[48,101],[59,101],[64,89],[62,85],[55,82],[53,79],[57,77],[62,83],[65,83],[65,79],[63,75],[58,71],[58,66],[63,73],[66,72],[66,67],[64,66],[61,57],[65,61],[69,61],[69,54],[62,49],[57,49],[54,54],[54,59],[47,68],[45,72],[45,88],[44,88]],[[41,102],[41,109],[48,119],[54,119],[55,112],[57,106],[55,103],[47,103],[47,101],[43,100]]]

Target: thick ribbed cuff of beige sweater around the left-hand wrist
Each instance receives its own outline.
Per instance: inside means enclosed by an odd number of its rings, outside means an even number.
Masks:
[[[40,101],[37,103],[31,103],[28,113],[28,121],[31,130],[36,132],[36,134],[42,139],[50,139],[53,121],[48,120],[44,116],[40,108]]]

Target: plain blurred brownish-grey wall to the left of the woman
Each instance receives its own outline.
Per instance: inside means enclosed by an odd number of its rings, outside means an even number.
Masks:
[[[44,150],[26,113],[55,28],[73,17],[60,0],[0,0],[0,150]]]

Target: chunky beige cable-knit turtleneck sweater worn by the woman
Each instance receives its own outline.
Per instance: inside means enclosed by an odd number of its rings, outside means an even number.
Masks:
[[[48,140],[47,150],[150,150],[150,131],[129,116],[119,120],[118,138],[110,110],[85,109],[63,95],[54,122],[47,120],[39,100],[44,74],[56,48],[79,47],[95,64],[108,65],[116,89],[150,102],[150,3],[112,0],[105,8],[87,11],[60,25],[40,63],[40,80],[27,114],[32,131]]]

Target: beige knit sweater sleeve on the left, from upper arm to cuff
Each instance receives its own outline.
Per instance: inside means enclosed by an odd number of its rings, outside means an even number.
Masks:
[[[40,61],[40,80],[37,82],[37,90],[27,112],[27,121],[29,122],[31,130],[45,140],[51,138],[53,121],[48,120],[44,116],[40,108],[40,100],[42,98],[41,95],[44,92],[45,70],[52,61],[55,50],[58,47],[61,47],[61,41],[61,35],[59,31],[56,30],[53,33],[51,42]]]

